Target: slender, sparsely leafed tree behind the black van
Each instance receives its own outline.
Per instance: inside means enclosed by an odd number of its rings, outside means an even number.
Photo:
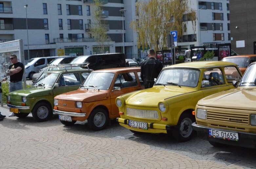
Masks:
[[[94,0],[95,6],[94,6],[94,26],[92,28],[93,36],[96,40],[96,42],[100,45],[99,52],[105,53],[104,49],[107,49],[106,46],[104,47],[104,44],[108,41],[110,41],[109,36],[106,33],[107,29],[107,21],[102,20],[103,16],[103,9],[102,9],[102,1],[101,0]]]

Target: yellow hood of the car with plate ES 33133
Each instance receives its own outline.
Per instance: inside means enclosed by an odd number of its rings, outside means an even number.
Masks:
[[[145,90],[140,90],[124,95],[126,104],[134,106],[157,107],[158,102],[166,98],[184,93],[194,92],[196,89],[178,86],[157,86]]]

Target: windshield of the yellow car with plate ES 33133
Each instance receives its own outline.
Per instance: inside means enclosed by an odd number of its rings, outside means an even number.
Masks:
[[[174,86],[187,86],[196,87],[200,71],[195,69],[166,69],[161,72],[156,85],[174,85]]]

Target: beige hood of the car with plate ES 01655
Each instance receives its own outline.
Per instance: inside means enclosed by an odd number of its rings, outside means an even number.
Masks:
[[[197,104],[225,109],[256,110],[255,102],[255,87],[238,87],[205,97]]]

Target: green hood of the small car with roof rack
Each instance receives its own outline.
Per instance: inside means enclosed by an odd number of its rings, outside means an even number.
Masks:
[[[28,89],[21,89],[21,90],[16,90],[9,95],[15,95],[15,96],[26,96],[26,97],[41,97],[41,96],[46,96],[49,95],[51,92],[51,88],[44,88],[44,87],[31,87]]]

